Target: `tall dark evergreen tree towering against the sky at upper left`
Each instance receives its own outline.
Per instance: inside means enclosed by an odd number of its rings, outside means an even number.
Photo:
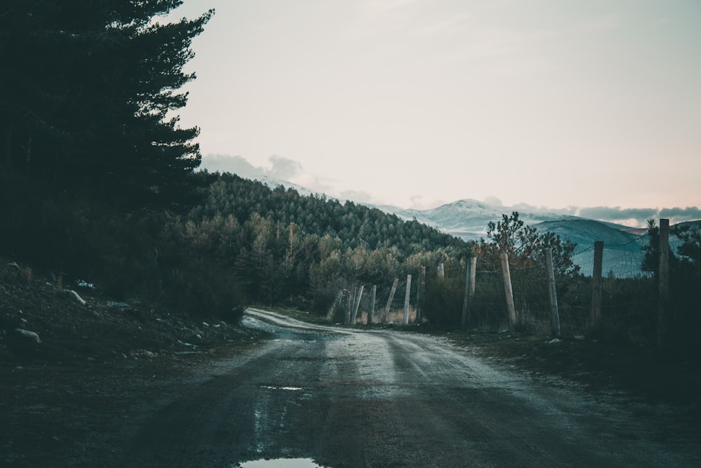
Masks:
[[[198,128],[172,112],[196,20],[157,22],[181,0],[4,0],[4,173],[121,202],[172,199],[200,162]]]

